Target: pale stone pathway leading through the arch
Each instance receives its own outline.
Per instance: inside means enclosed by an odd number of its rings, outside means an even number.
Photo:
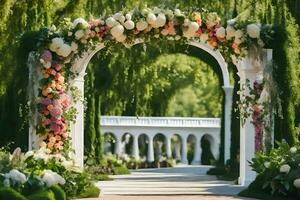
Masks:
[[[98,182],[103,200],[212,200],[243,199],[244,187],[206,175],[208,166],[133,170],[131,175],[112,176]],[[201,195],[201,196],[200,196]],[[244,198],[246,199],[246,198]]]

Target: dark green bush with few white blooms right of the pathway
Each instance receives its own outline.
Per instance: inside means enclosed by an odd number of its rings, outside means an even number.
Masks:
[[[300,145],[290,147],[288,143],[278,143],[278,148],[269,154],[257,153],[250,165],[258,173],[255,187],[272,195],[296,196],[300,178]],[[259,180],[259,181],[258,181]]]

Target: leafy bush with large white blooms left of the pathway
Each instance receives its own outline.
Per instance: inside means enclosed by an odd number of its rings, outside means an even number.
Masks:
[[[0,187],[11,187],[29,199],[51,199],[53,194],[55,199],[66,199],[93,186],[90,176],[73,160],[53,155],[45,147],[25,154],[16,149],[12,155],[1,150],[0,155]]]

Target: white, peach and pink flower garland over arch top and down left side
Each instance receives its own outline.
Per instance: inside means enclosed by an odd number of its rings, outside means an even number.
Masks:
[[[52,26],[41,38],[39,60],[43,77],[39,85],[37,134],[44,136],[53,153],[68,149],[70,122],[75,120],[77,112],[72,105],[78,99],[69,92],[68,81],[76,76],[72,63],[100,43],[130,47],[151,38],[199,41],[237,62],[247,54],[250,45],[264,45],[260,35],[270,32],[269,26],[265,27],[236,20],[229,20],[224,27],[214,12],[187,13],[157,7],[118,12],[89,22],[82,18],[73,22],[66,19],[61,27]]]

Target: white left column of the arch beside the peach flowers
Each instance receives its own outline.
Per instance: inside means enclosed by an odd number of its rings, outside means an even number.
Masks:
[[[84,79],[79,76],[72,82],[71,86],[79,89],[82,97],[84,97]],[[74,160],[80,167],[83,167],[84,156],[84,106],[82,101],[75,104],[77,109],[76,122],[71,125],[72,148],[75,150]]]

